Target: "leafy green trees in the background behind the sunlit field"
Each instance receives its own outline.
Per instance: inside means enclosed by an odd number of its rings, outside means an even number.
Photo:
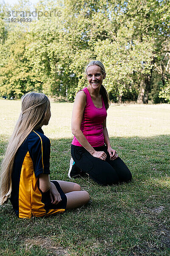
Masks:
[[[169,83],[169,1],[43,0],[34,8],[57,9],[61,15],[14,24],[7,22],[9,6],[1,8],[1,95],[18,98],[42,90],[73,101],[77,90],[87,85],[85,65],[98,59],[105,65],[104,85],[114,101],[136,100],[142,90],[153,102],[159,101],[159,94],[161,100],[168,99],[161,93],[168,90],[160,89],[152,76],[158,73],[158,82]],[[29,10],[29,1],[14,9]]]

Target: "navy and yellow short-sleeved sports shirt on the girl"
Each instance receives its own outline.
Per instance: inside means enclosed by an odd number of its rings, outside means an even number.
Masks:
[[[50,140],[39,128],[31,131],[17,150],[10,201],[20,218],[31,218],[32,215],[41,217],[65,211],[58,209],[59,205],[51,205],[49,191],[42,193],[39,187],[38,176],[41,173],[50,174],[50,147]]]

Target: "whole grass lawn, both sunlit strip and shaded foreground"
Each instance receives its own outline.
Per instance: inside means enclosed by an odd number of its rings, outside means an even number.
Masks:
[[[0,157],[20,113],[19,101],[0,101]],[[52,103],[44,126],[51,139],[51,179],[66,180],[72,103]],[[170,255],[170,105],[111,105],[113,148],[133,174],[130,183],[99,186],[76,179],[91,196],[87,206],[48,218],[19,219],[0,207],[0,255]]]

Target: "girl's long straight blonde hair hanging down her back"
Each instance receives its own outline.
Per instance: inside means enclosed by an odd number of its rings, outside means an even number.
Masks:
[[[46,112],[50,108],[50,101],[43,93],[27,93],[21,97],[21,100],[21,113],[1,165],[0,205],[5,203],[11,195],[11,174],[18,148],[33,129],[40,128],[45,124]]]

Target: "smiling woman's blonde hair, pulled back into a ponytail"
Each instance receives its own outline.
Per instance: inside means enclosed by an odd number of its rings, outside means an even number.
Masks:
[[[101,68],[102,75],[104,75],[106,73],[105,72],[105,67],[104,67],[104,65],[102,64],[101,61],[90,61],[87,64],[86,68],[85,68],[85,73],[86,74],[87,74],[88,67],[93,66],[93,65],[97,65]],[[109,100],[108,92],[107,92],[107,90],[105,89],[105,87],[103,85],[101,85],[101,87],[100,87],[100,94],[102,95],[102,98],[103,98],[104,103],[105,103],[105,108],[107,110],[109,108],[109,105],[111,104],[111,102]]]

